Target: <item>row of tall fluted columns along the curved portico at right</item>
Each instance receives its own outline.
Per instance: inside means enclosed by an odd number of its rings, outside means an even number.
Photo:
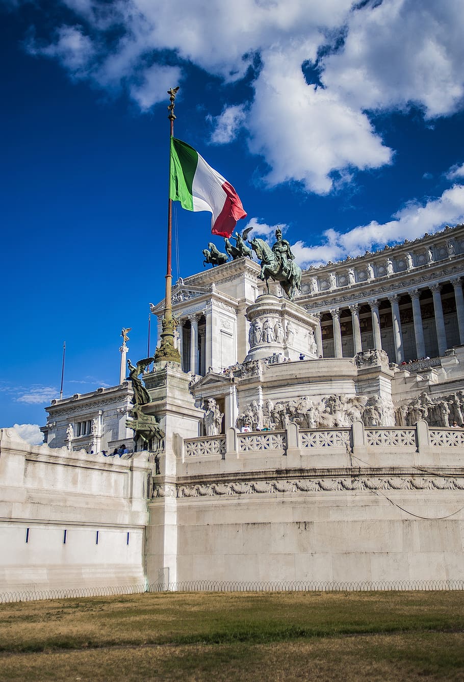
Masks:
[[[456,302],[456,313],[457,313],[457,323],[459,328],[459,343],[464,344],[464,294],[461,278],[454,278],[448,280],[451,282],[454,288],[454,299]],[[437,333],[437,345],[438,345],[438,355],[444,355],[447,349],[446,340],[446,329],[444,321],[444,313],[442,306],[442,286],[444,282],[439,284],[433,284],[427,288],[430,289],[433,297],[433,310],[435,316],[435,328]],[[414,323],[414,337],[416,342],[416,355],[417,357],[425,357],[427,355],[426,344],[424,340],[424,328],[422,325],[422,312],[420,310],[420,295],[424,289],[412,288],[409,291],[404,291],[402,293],[394,293],[387,295],[386,298],[390,302],[391,314],[392,314],[392,333],[393,333],[393,345],[395,349],[395,358],[390,358],[390,360],[395,360],[397,364],[401,364],[404,361],[404,347],[403,347],[403,334],[401,329],[401,317],[399,311],[399,299],[402,296],[409,295],[412,301],[412,314]],[[353,329],[353,347],[354,354],[360,353],[362,349],[361,340],[361,328],[360,328],[360,317],[359,309],[361,305],[369,305],[371,308],[371,319],[372,319],[372,335],[373,335],[373,346],[375,349],[382,349],[382,333],[380,327],[380,312],[379,312],[379,299],[370,299],[363,301],[362,303],[347,306],[351,312],[352,318],[352,329]],[[343,308],[330,308],[328,311],[312,313],[316,320],[318,321],[315,327],[315,342],[318,346],[318,356],[323,357],[323,344],[322,344],[322,327],[321,318],[325,312],[329,312],[332,316],[332,328],[333,328],[333,343],[334,343],[334,355],[335,357],[343,357],[342,353],[342,336],[341,336],[341,325],[340,325],[340,313]]]

